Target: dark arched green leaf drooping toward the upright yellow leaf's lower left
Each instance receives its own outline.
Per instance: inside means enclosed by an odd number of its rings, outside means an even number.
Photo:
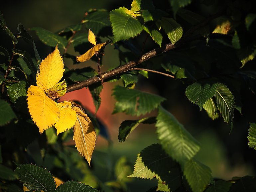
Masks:
[[[14,55],[19,55],[23,58],[23,60],[27,63],[29,69],[31,70],[34,80],[36,81],[36,74],[37,74],[37,70],[39,69],[39,66],[37,63],[33,62],[30,54],[26,51],[22,51],[18,49],[12,49],[12,52]]]

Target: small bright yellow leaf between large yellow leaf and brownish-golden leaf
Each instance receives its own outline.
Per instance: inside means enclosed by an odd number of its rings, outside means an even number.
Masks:
[[[58,103],[60,109],[60,119],[54,125],[57,129],[57,135],[71,129],[76,122],[76,112],[71,108],[71,103],[64,101],[63,103]]]

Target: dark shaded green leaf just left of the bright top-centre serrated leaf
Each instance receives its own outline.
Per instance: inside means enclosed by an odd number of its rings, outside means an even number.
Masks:
[[[87,29],[91,29],[95,35],[107,36],[106,29],[110,28],[109,11],[105,9],[98,9],[96,11],[89,11],[88,15],[84,17],[83,23]]]

